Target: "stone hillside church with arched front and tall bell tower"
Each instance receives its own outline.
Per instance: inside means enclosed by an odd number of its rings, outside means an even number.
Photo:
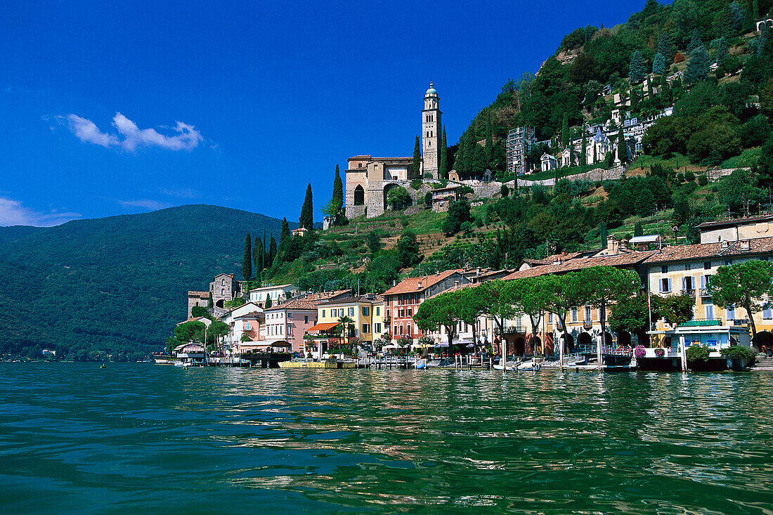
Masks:
[[[346,216],[378,217],[386,210],[386,195],[396,186],[407,186],[411,179],[438,178],[441,147],[440,97],[432,83],[424,94],[421,111],[421,169],[414,170],[412,157],[372,157],[355,155],[347,159]]]

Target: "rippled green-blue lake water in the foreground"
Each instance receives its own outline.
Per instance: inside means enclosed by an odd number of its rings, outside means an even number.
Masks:
[[[0,513],[771,513],[773,373],[0,363]]]

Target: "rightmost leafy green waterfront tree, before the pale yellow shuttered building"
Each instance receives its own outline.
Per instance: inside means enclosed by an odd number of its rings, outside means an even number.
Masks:
[[[754,314],[770,306],[773,296],[773,263],[750,260],[721,266],[708,285],[715,305],[741,307],[746,310],[751,325],[751,336],[756,339]]]

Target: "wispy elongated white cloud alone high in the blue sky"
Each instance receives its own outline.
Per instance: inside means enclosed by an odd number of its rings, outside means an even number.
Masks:
[[[135,152],[139,147],[159,147],[168,150],[192,150],[199,146],[203,137],[192,125],[178,121],[172,131],[174,135],[162,135],[154,128],[141,129],[134,121],[129,120],[121,113],[113,117],[113,127],[118,134],[109,134],[100,131],[93,121],[81,118],[77,114],[67,114],[59,117],[65,121],[70,131],[83,143],[93,143],[105,148],[120,147],[129,152]]]

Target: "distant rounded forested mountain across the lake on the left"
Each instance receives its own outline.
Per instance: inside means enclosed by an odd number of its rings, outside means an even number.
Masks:
[[[292,224],[295,227],[297,224]],[[186,292],[220,272],[240,277],[244,234],[281,220],[218,206],[0,230],[0,352],[39,344],[114,358],[163,346]],[[80,354],[79,354],[80,351]]]

